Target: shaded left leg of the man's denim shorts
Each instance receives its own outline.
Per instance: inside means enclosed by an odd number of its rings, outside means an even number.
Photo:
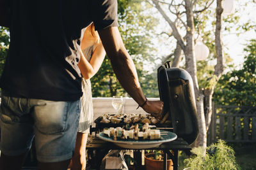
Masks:
[[[28,100],[17,97],[1,97],[0,150],[5,155],[26,153],[33,140],[33,118],[26,109]]]

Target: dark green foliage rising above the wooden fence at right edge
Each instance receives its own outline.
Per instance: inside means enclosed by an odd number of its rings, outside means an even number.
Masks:
[[[241,69],[223,74],[214,92],[214,101],[222,105],[256,106],[256,39],[244,48],[247,55]]]

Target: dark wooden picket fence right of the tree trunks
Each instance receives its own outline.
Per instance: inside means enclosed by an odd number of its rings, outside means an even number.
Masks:
[[[256,142],[256,107],[214,106],[207,144],[218,139],[227,142]]]

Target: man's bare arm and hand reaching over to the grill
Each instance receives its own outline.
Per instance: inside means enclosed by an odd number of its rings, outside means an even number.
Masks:
[[[142,92],[136,67],[124,46],[118,27],[108,27],[98,32],[111,61],[113,71],[122,87],[140,106],[143,105],[146,97]],[[162,109],[162,101],[147,101],[143,106],[143,110],[152,113],[156,117],[161,116]]]

